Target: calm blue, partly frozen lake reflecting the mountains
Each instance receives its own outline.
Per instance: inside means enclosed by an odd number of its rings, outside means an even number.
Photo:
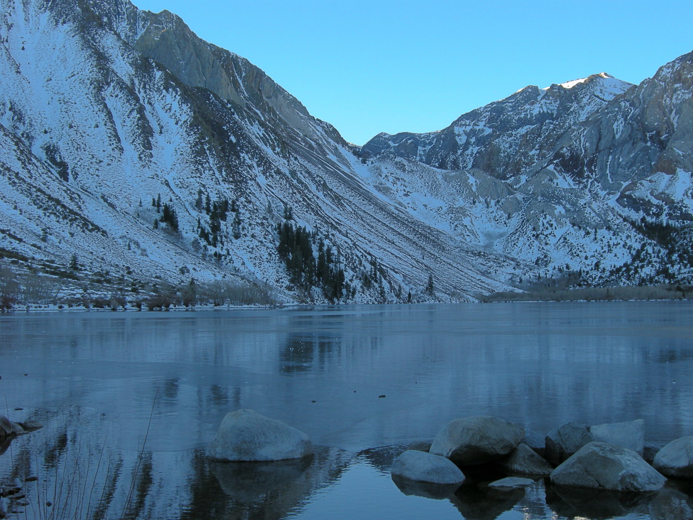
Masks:
[[[26,494],[0,508],[20,518],[684,518],[693,489],[682,483],[635,501],[565,496],[541,480],[430,499],[398,489],[389,467],[405,444],[466,415],[542,434],[568,420],[642,418],[647,440],[693,435],[692,316],[693,302],[2,315],[1,413],[45,427],[0,454],[0,485]],[[238,408],[320,448],[279,469],[208,464],[204,447]]]

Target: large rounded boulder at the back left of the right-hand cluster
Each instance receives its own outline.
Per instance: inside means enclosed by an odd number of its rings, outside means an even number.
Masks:
[[[460,466],[484,464],[513,451],[525,435],[521,426],[490,415],[448,422],[433,440],[430,453]]]

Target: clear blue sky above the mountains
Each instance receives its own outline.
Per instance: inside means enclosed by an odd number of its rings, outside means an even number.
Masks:
[[[631,83],[693,51],[693,1],[132,0],[247,58],[344,139],[428,132],[527,85]]]

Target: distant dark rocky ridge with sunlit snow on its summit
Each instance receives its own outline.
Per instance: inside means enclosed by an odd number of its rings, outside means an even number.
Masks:
[[[559,135],[632,86],[606,73],[547,89],[531,85],[459,116],[440,132],[379,134],[363,150],[507,179],[546,157]]]

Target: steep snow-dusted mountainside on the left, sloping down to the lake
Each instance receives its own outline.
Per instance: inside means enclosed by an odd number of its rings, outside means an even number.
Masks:
[[[17,268],[73,279],[74,255],[135,292],[225,278],[283,301],[404,301],[431,276],[443,300],[508,287],[509,259],[392,205],[337,130],[170,12],[2,6],[0,248]],[[285,224],[324,248],[322,276],[297,273],[305,241],[280,256]]]

